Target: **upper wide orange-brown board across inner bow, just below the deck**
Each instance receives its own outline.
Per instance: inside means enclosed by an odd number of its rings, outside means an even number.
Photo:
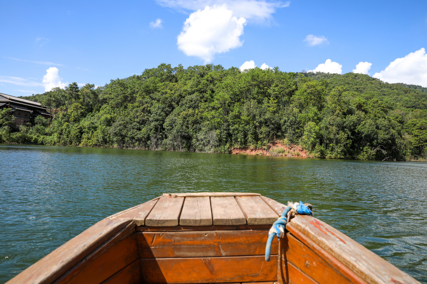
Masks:
[[[268,230],[137,233],[140,258],[264,255]],[[272,243],[278,252],[278,241]]]

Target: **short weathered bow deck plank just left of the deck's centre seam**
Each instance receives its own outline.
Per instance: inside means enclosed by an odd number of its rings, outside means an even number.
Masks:
[[[185,197],[179,225],[181,226],[211,226],[211,200],[208,196]]]

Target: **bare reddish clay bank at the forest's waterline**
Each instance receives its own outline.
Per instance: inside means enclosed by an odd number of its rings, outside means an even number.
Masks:
[[[307,151],[303,150],[298,145],[284,145],[281,142],[273,142],[268,145],[269,149],[266,148],[233,148],[230,154],[240,155],[259,155],[259,156],[282,156],[282,157],[300,157],[307,158]]]

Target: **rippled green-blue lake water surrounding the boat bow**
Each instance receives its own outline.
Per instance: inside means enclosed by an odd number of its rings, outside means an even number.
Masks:
[[[0,144],[0,283],[92,224],[166,192],[257,192],[427,283],[427,163]]]

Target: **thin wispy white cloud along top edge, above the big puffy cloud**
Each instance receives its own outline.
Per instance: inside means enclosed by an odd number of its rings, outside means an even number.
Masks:
[[[206,6],[225,5],[233,11],[234,16],[255,21],[266,20],[276,12],[276,9],[290,5],[289,1],[283,3],[277,0],[156,0],[156,2],[164,7],[190,11],[204,9]]]

